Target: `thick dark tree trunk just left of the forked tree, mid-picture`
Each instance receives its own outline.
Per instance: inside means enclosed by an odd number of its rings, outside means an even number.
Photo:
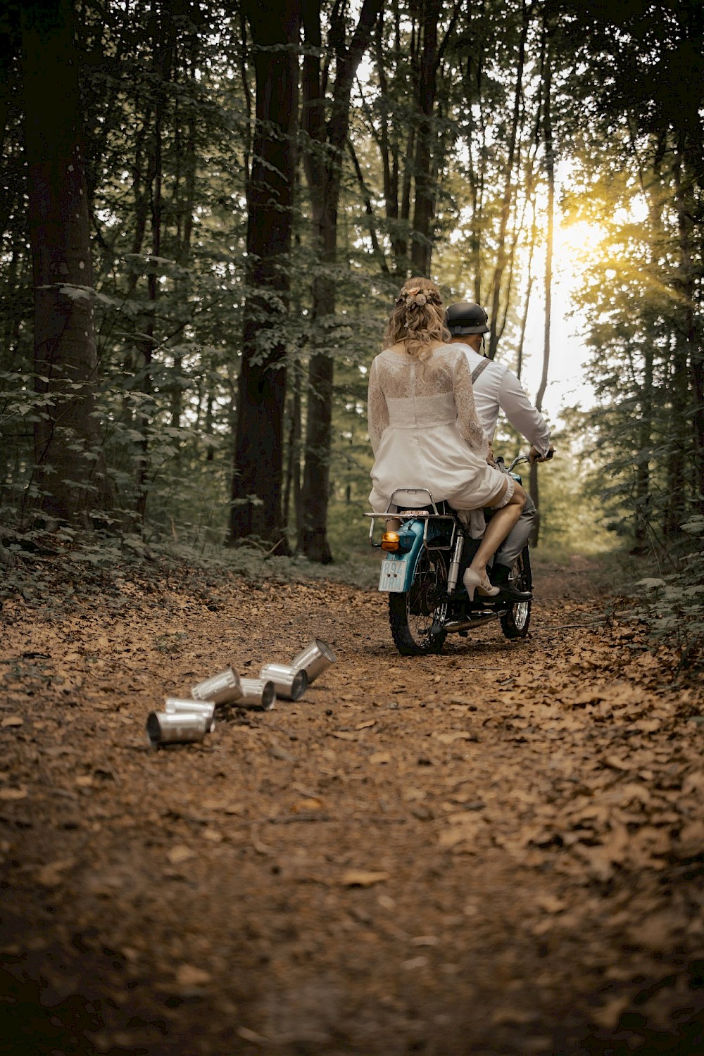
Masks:
[[[247,282],[230,541],[256,535],[286,552],[282,518],[300,5],[247,0],[254,45],[256,125],[247,185]]]

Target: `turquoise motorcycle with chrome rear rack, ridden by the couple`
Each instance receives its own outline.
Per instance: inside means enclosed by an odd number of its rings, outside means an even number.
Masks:
[[[514,468],[528,461],[518,455],[505,472],[519,484]],[[503,468],[503,459],[497,461]],[[406,509],[403,493],[427,494],[427,505]],[[398,508],[394,512],[393,508]],[[386,557],[381,563],[379,590],[388,593],[388,621],[394,644],[401,656],[427,656],[440,653],[449,634],[467,637],[470,630],[498,620],[507,638],[525,638],[531,620],[531,602],[512,602],[483,598],[475,593],[470,602],[461,584],[478,541],[444,501],[435,502],[425,488],[397,488],[385,513],[366,513],[370,517],[369,543],[381,547]],[[374,541],[377,520],[397,517],[396,531],[385,531],[380,543]],[[531,562],[526,545],[509,576],[518,590],[531,591]],[[459,583],[459,588],[458,588]]]

